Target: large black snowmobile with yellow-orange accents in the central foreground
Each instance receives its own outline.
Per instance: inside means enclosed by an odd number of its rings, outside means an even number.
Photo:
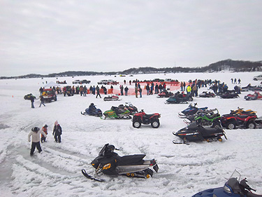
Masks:
[[[158,172],[159,167],[157,161],[144,160],[145,154],[134,154],[128,156],[119,156],[114,152],[115,146],[112,144],[105,144],[99,156],[97,156],[91,163],[96,169],[95,175],[87,175],[85,170],[82,170],[82,174],[89,179],[103,182],[103,179],[99,179],[96,176],[103,172],[104,175],[126,175],[127,177],[140,177],[150,178],[153,175],[153,168],[155,172]]]

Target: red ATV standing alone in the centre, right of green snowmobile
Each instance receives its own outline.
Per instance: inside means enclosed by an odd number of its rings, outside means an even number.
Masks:
[[[133,115],[133,127],[140,128],[141,124],[151,124],[152,128],[159,128],[160,117],[161,115],[159,113],[145,114],[145,111],[142,109],[139,113]]]

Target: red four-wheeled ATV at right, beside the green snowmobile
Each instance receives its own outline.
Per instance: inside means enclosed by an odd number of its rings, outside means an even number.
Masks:
[[[221,125],[228,129],[235,129],[237,126],[244,128],[256,128],[256,114],[224,114],[221,116]]]

